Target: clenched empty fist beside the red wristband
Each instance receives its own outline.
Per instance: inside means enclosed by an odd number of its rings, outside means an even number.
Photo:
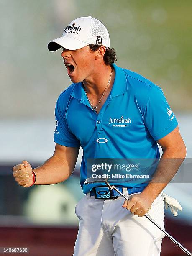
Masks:
[[[33,184],[32,167],[27,161],[13,167],[13,177],[20,186],[30,187]]]

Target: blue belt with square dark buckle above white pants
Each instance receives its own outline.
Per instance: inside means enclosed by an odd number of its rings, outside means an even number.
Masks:
[[[121,193],[123,193],[123,187],[116,187]],[[133,193],[142,192],[144,187],[133,187],[133,188],[126,188],[128,195],[131,195]],[[115,189],[110,190],[107,186],[100,186],[100,187],[94,187],[93,190],[90,192],[91,196],[95,196],[96,199],[112,199],[121,197],[121,195],[115,191]]]

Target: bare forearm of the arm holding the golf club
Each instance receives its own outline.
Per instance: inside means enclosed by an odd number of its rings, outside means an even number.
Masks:
[[[185,156],[185,146],[177,148],[177,150],[167,148],[161,156],[151,182],[147,185],[142,193],[150,195],[152,201],[155,200],[156,197],[175,176]]]

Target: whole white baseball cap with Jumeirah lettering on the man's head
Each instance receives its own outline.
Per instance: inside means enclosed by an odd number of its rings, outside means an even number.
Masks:
[[[69,50],[77,50],[89,44],[110,47],[107,28],[97,19],[80,17],[73,20],[59,38],[50,41],[49,51],[56,51],[61,47]]]

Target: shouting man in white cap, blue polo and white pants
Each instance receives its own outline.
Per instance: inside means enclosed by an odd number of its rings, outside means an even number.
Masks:
[[[48,44],[50,51],[61,47],[72,84],[56,103],[54,155],[33,171],[23,161],[13,167],[13,176],[23,187],[63,182],[72,174],[81,146],[80,183],[85,196],[75,209],[79,233],[74,256],[157,256],[164,234],[143,216],[148,212],[164,226],[160,193],[186,155],[174,113],[160,87],[114,64],[115,50],[109,48],[108,31],[99,20],[90,16],[73,20],[61,38]],[[128,202],[121,196],[97,199],[93,188],[103,184],[84,184],[87,159],[158,159],[157,143],[163,155],[151,182],[113,183]],[[162,159],[169,158],[181,161],[163,165]],[[159,182],[159,177],[165,180]]]

